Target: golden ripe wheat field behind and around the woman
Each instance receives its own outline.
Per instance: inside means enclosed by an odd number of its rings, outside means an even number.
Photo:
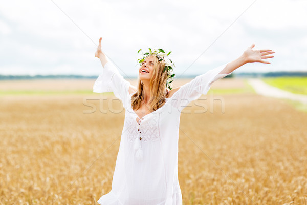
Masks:
[[[223,80],[212,89],[246,86]],[[307,113],[253,92],[201,98],[181,115],[183,204],[307,204]],[[0,204],[97,204],[111,190],[124,120],[111,99],[1,95]]]

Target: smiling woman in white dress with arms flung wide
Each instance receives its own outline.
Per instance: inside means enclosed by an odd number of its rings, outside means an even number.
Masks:
[[[137,88],[130,85],[101,51],[95,53],[103,66],[94,92],[114,92],[122,100],[125,121],[112,181],[112,190],[98,203],[182,204],[178,181],[178,134],[181,110],[206,94],[211,84],[240,66],[260,62],[270,64],[271,50],[253,50],[227,65],[197,76],[189,83],[171,89],[174,64],[162,49],[152,50],[139,59]]]

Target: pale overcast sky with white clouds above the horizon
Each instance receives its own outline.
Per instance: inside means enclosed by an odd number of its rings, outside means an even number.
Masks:
[[[181,74],[202,74],[252,43],[271,65],[235,72],[307,71],[307,1],[5,1],[0,74],[98,75],[102,50],[122,75],[137,76],[139,49],[162,48]]]

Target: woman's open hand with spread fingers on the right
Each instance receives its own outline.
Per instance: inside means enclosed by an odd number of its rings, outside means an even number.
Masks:
[[[275,52],[269,49],[253,50],[254,47],[255,44],[252,44],[244,51],[243,57],[246,60],[246,63],[260,62],[264,64],[271,64],[269,61],[266,61],[264,59],[274,57],[273,55],[270,54],[273,54]]]

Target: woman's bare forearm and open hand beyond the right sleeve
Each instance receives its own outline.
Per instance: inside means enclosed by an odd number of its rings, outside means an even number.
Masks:
[[[253,50],[255,47],[255,44],[252,44],[250,47],[248,47],[244,53],[238,57],[237,59],[231,61],[229,64],[226,65],[226,67],[221,71],[221,74],[228,74],[233,72],[235,69],[243,66],[247,63],[254,63],[254,62],[260,62],[264,64],[271,64],[269,61],[266,61],[264,59],[272,58],[274,57],[272,50],[270,49],[264,49],[264,50]]]

